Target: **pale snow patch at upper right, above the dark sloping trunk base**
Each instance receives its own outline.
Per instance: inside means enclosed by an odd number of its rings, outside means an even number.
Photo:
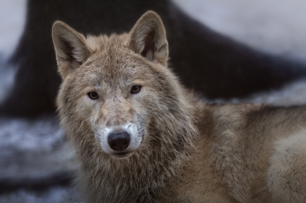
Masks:
[[[306,62],[306,1],[173,1],[191,17],[236,41]]]

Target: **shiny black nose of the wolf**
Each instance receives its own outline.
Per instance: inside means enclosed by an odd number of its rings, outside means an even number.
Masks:
[[[115,151],[122,151],[128,148],[131,139],[126,131],[113,131],[108,135],[108,145]]]

